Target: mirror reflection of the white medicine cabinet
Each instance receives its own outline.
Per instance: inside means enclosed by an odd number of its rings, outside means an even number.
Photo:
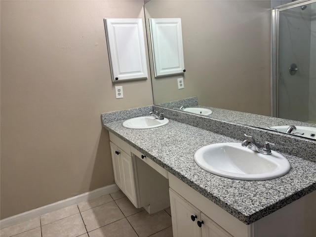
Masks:
[[[183,74],[181,18],[149,19],[155,77]]]

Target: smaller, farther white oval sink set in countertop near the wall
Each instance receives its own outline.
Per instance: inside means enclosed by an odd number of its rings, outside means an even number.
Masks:
[[[148,129],[153,127],[160,127],[169,122],[168,118],[156,119],[153,116],[144,116],[131,118],[123,122],[123,127],[133,129]]]

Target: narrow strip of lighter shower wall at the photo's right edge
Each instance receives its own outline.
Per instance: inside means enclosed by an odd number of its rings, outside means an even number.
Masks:
[[[316,123],[316,3],[311,7],[311,66],[309,121]]]

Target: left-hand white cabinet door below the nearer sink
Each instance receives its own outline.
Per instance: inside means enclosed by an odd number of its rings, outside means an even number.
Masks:
[[[169,189],[173,237],[200,237],[197,221],[200,212],[185,199]],[[191,216],[196,216],[195,220]]]

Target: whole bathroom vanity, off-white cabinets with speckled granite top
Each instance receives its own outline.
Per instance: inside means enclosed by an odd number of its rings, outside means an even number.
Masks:
[[[157,128],[128,129],[122,126],[128,116],[102,116],[119,188],[149,213],[170,202],[175,237],[315,236],[313,154],[307,159],[282,153],[291,170],[276,179],[228,179],[201,169],[193,156],[202,146],[241,140],[172,119]]]

